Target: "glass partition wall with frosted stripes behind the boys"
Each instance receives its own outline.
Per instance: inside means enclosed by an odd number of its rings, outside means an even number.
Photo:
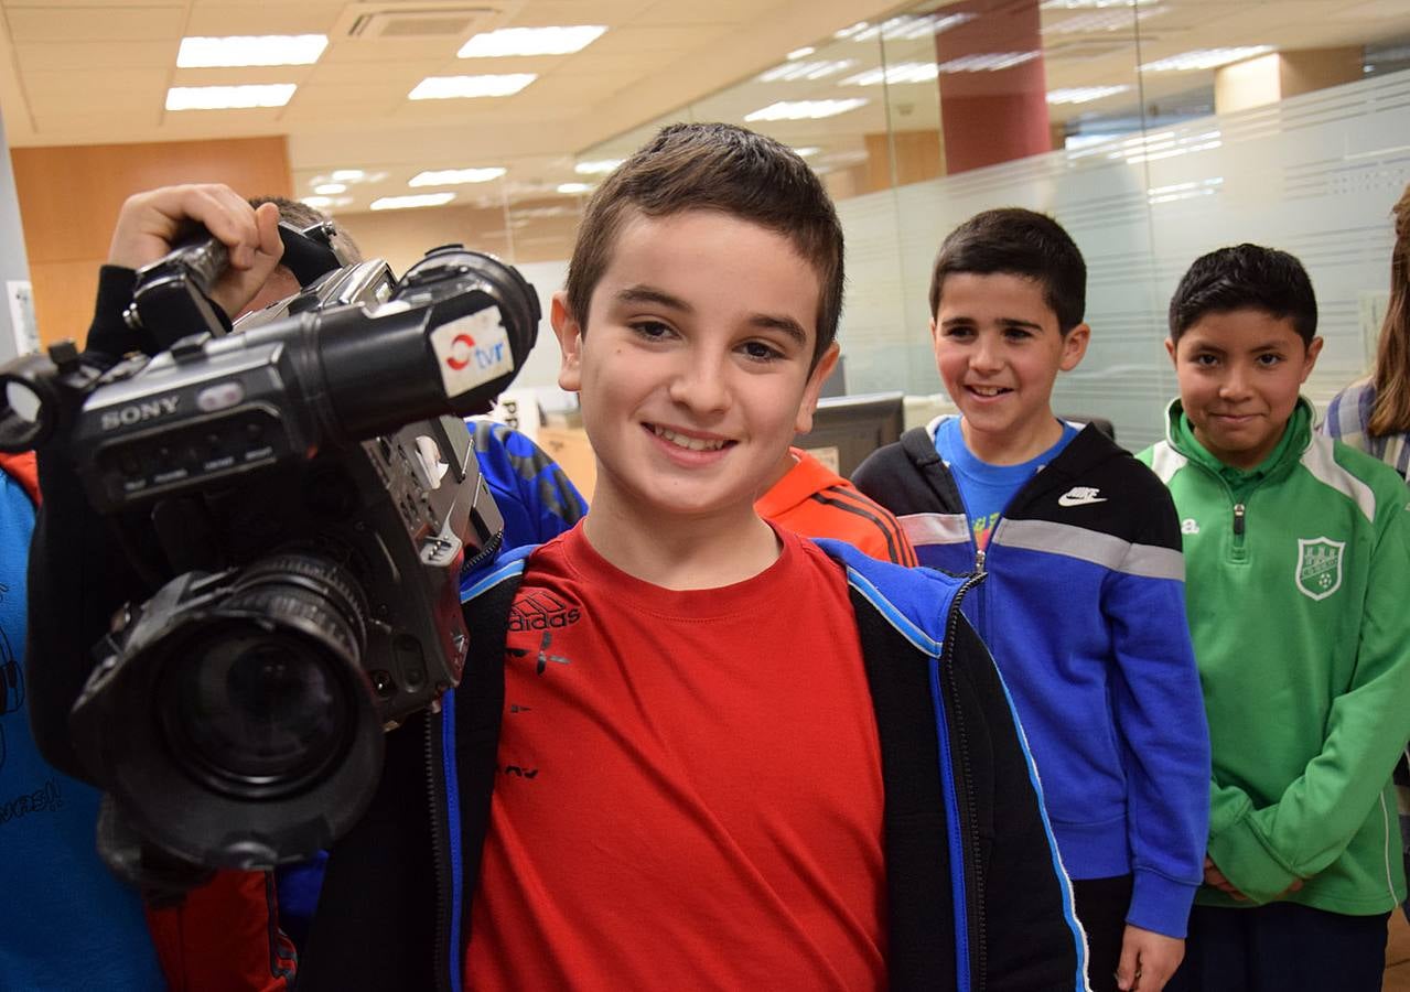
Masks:
[[[940,392],[926,293],[955,224],[998,206],[1058,217],[1087,259],[1093,342],[1055,403],[1111,420],[1135,450],[1175,393],[1170,292],[1220,245],[1268,244],[1307,265],[1327,338],[1314,402],[1365,369],[1389,292],[1390,206],[1410,182],[1410,4],[908,7],[584,149],[580,197],[673,120],[746,124],[823,176],[847,237],[852,393]],[[516,213],[510,225],[536,220]]]

